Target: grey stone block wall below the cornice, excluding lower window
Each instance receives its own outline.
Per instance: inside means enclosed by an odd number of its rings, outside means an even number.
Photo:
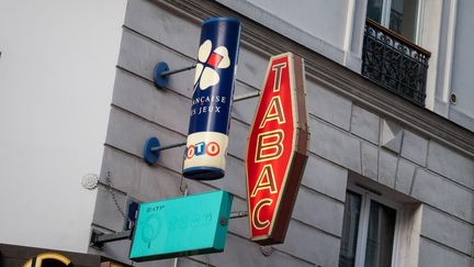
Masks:
[[[230,11],[219,7],[208,12],[228,15]],[[151,201],[181,196],[183,185],[187,185],[189,193],[225,189],[235,194],[233,211],[247,209],[244,158],[256,99],[234,104],[224,179],[205,182],[182,180],[183,148],[161,152],[160,159],[153,167],[142,159],[143,144],[150,136],[158,136],[162,144],[185,140],[193,71],[171,77],[168,88],[162,90],[155,88],[151,71],[161,60],[171,68],[193,63],[201,20],[173,3],[128,2],[101,173],[102,185],[108,185],[105,177],[110,171],[113,192],[122,208],[126,207],[128,199]],[[246,20],[244,27],[251,26],[251,23]],[[279,38],[287,42],[282,36]],[[273,42],[278,44],[280,40]],[[295,53],[300,54],[301,49],[295,45]],[[270,55],[271,52],[266,53],[252,45],[251,38],[244,33],[236,96],[260,90]],[[319,65],[316,66],[315,62]],[[324,58],[307,60],[308,69],[315,66],[342,69]],[[382,109],[375,107],[379,103],[363,101],[357,88],[392,98],[394,105],[405,104],[405,100],[359,75],[341,71],[330,79],[353,82],[356,89],[348,87],[341,93],[337,85],[307,75],[306,102],[312,134],[309,158],[285,243],[260,247],[248,240],[248,219],[236,219],[229,223],[224,253],[180,258],[179,266],[337,266],[349,179],[372,182],[382,188],[377,189],[383,191],[382,196],[386,192],[386,196],[395,196],[394,199],[402,204],[415,203],[422,208],[417,234],[419,245],[415,248],[419,249],[419,266],[470,265],[474,222],[474,162],[469,146],[470,142],[474,143],[472,132],[450,130],[467,136],[464,142],[467,148],[458,149],[458,144],[450,145],[456,136],[445,137],[427,129],[419,131],[425,124],[407,122],[405,118],[408,115],[403,112],[411,111],[388,112],[394,109],[392,105]],[[410,103],[407,107],[414,110],[415,118],[428,114]],[[432,114],[422,120],[432,120],[440,125],[449,123]],[[112,232],[121,231],[123,225],[124,219],[112,194],[102,187],[93,227]],[[126,260],[129,242],[115,242],[106,244],[101,252],[94,252]],[[264,256],[264,253],[270,255]],[[171,262],[137,266],[172,266]]]

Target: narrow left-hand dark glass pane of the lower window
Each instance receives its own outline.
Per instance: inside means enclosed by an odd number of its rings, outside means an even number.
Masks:
[[[339,267],[353,267],[356,262],[357,238],[362,198],[348,191],[346,194]]]

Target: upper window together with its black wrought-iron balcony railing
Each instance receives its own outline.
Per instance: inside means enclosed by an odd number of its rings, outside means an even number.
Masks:
[[[430,53],[414,44],[424,0],[368,0],[361,74],[425,107]]]

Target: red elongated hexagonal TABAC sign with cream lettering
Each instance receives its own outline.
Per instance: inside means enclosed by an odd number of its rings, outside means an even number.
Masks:
[[[247,193],[252,241],[283,243],[308,144],[303,59],[270,59],[247,146]]]

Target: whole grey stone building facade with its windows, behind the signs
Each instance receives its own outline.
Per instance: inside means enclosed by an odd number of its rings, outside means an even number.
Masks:
[[[234,103],[226,176],[182,177],[184,148],[147,165],[145,141],[185,141],[193,71],[157,89],[158,62],[195,62],[201,23],[242,22],[235,96],[261,90],[271,56],[305,59],[308,159],[283,244],[233,219],[224,253],[133,263],[131,241],[100,254],[133,266],[472,266],[474,59],[469,0],[131,0],[91,231],[120,233],[133,202],[224,189],[247,211],[245,158],[258,99]],[[89,237],[89,236],[88,236]]]

